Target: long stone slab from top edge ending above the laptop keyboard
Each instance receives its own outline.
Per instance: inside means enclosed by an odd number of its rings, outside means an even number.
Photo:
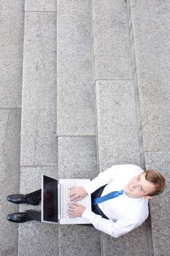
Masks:
[[[58,1],[59,135],[95,135],[90,1]]]

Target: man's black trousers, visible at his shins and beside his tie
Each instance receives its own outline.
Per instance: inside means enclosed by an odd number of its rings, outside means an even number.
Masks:
[[[100,187],[95,192],[91,194],[91,201],[93,201],[94,198],[100,197],[101,193],[104,190],[104,187],[107,185],[104,185],[103,187]],[[42,200],[42,189],[36,190],[35,192],[32,192],[28,195],[26,195],[27,203],[34,204],[39,203],[40,200]],[[98,207],[98,205],[93,206],[92,204],[92,211],[95,214],[101,215],[104,219],[108,219],[106,215],[101,211],[101,209]],[[26,213],[28,214],[28,217],[32,220],[37,220],[41,222],[41,211],[35,211],[35,210],[26,210]]]

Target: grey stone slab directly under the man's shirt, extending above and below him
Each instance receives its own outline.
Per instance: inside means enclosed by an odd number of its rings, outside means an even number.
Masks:
[[[96,98],[100,171],[116,164],[140,165],[133,80],[97,81]],[[104,233],[102,238],[103,255],[148,255],[145,222],[118,239]]]

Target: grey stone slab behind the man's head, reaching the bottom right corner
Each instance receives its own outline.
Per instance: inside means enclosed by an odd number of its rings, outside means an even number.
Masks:
[[[159,170],[166,178],[166,189],[161,195],[150,200],[150,215],[152,225],[152,242],[154,256],[168,256],[170,251],[170,152],[146,152],[146,169]]]

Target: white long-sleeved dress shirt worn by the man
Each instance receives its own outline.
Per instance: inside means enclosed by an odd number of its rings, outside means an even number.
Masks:
[[[113,165],[83,187],[90,195],[99,187],[108,184],[101,194],[103,196],[124,189],[131,178],[143,172],[144,170],[137,165]],[[125,192],[123,195],[99,203],[98,207],[109,219],[104,219],[88,209],[85,209],[82,217],[88,219],[96,229],[115,238],[142,225],[149,214],[147,199],[128,197]]]

